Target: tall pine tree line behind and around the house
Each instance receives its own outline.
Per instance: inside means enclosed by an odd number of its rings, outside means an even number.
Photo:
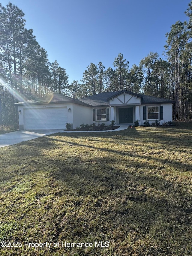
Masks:
[[[139,65],[129,68],[129,62],[119,53],[113,68],[91,62],[82,79],[69,84],[66,70],[56,60],[49,62],[33,30],[25,28],[22,10],[11,3],[6,7],[0,4],[0,125],[18,122],[14,106],[18,101],[52,92],[84,98],[123,89],[174,100],[174,119],[191,119],[192,2],[186,15],[188,21],[176,22],[166,35],[167,60],[150,52]]]

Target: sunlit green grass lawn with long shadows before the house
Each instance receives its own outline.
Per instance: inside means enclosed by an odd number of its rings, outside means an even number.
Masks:
[[[52,245],[0,255],[192,255],[191,149],[188,124],[52,134],[1,148],[0,240]],[[61,241],[93,247],[53,247]]]

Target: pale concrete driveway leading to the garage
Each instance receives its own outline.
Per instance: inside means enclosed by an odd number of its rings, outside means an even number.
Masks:
[[[0,147],[10,146],[22,141],[36,139],[56,132],[63,132],[63,130],[22,130],[0,134]]]

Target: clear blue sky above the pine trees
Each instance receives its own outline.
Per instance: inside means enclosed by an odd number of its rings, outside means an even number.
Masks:
[[[9,1],[0,1],[5,6]],[[190,0],[12,0],[25,14],[50,62],[66,69],[69,82],[82,79],[90,63],[114,68],[119,53],[139,64],[149,52],[160,57],[165,34],[187,20]]]

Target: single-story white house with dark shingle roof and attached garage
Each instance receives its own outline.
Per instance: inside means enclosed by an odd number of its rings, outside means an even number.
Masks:
[[[19,129],[65,129],[80,124],[143,125],[145,120],[172,121],[174,101],[129,92],[103,92],[82,99],[61,94],[18,102]]]

